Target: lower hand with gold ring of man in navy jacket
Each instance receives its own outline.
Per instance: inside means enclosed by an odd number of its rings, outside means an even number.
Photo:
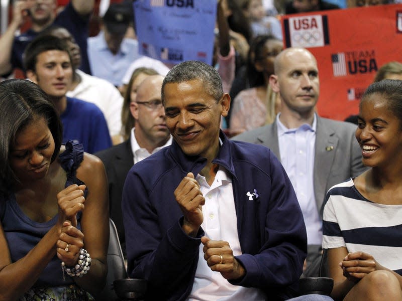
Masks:
[[[220,272],[228,280],[239,279],[245,275],[246,270],[233,255],[227,241],[211,240],[204,236],[201,242],[204,244],[204,259],[211,270]]]

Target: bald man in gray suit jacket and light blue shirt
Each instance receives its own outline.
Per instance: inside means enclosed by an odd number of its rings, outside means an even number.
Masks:
[[[365,170],[355,139],[356,125],[322,118],[315,112],[320,80],[317,61],[302,48],[288,48],[275,59],[269,83],[281,96],[272,124],[233,139],[263,144],[279,158],[297,195],[306,223],[308,257],[304,274],[317,276],[321,258],[326,192]]]

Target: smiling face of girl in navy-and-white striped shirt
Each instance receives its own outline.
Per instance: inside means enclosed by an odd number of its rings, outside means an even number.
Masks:
[[[365,166],[392,166],[401,162],[402,124],[382,95],[375,93],[362,99],[356,139]]]

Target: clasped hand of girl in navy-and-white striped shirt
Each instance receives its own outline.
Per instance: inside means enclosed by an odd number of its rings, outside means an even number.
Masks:
[[[358,282],[372,271],[385,269],[373,256],[361,251],[347,254],[339,265],[343,269],[343,275],[353,282]]]

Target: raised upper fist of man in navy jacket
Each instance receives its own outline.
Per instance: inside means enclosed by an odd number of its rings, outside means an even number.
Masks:
[[[183,230],[187,235],[195,237],[204,220],[202,206],[205,198],[192,173],[181,180],[174,191],[174,197],[184,216]]]

